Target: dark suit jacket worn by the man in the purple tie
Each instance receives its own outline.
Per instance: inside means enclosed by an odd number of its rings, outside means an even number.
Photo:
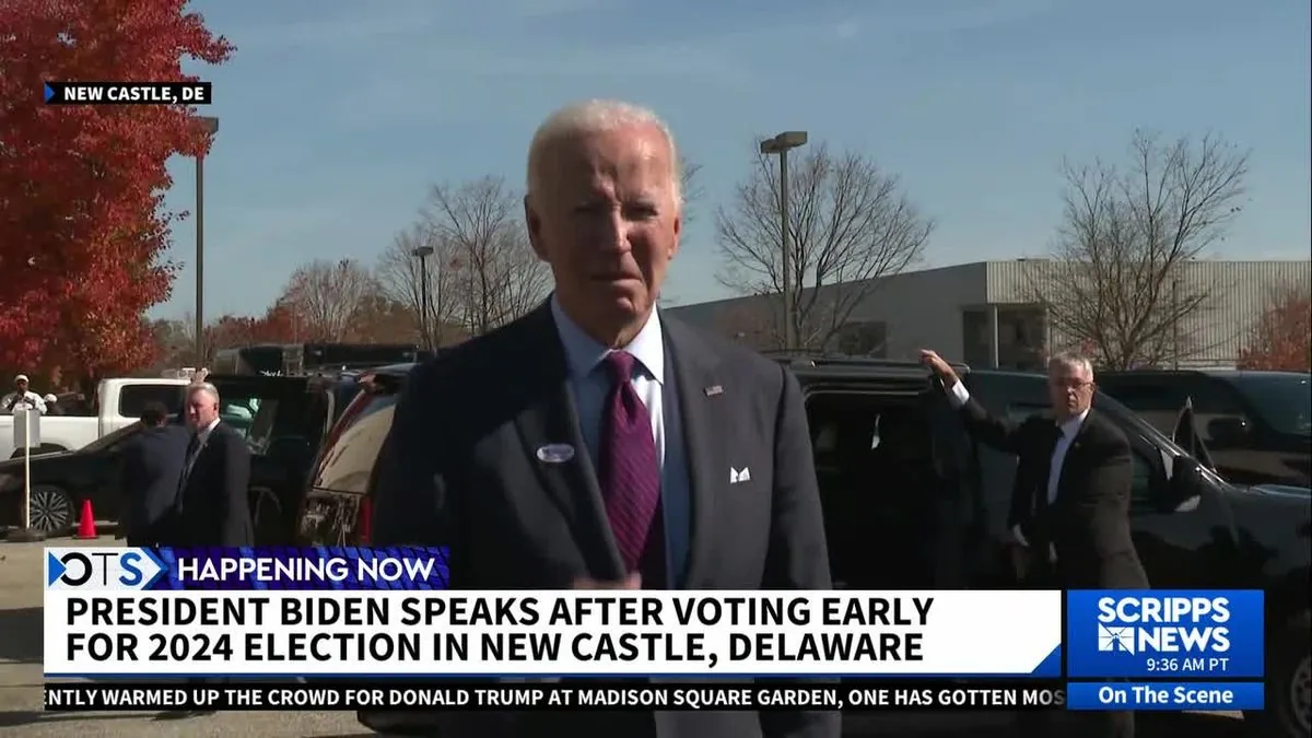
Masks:
[[[684,571],[669,588],[828,590],[820,498],[796,380],[777,362],[661,315],[687,454]],[[719,387],[722,391],[707,391]],[[669,393],[669,389],[665,389]],[[673,402],[665,395],[665,402]],[[668,425],[666,425],[668,427]],[[572,444],[563,464],[537,449]],[[450,546],[457,590],[565,590],[618,580],[619,553],[547,305],[417,366],[398,404],[377,491],[374,545]],[[731,485],[729,469],[750,469]],[[836,713],[466,713],[442,735],[605,730],[638,738],[836,738]],[[600,734],[600,733],[598,733]]]

